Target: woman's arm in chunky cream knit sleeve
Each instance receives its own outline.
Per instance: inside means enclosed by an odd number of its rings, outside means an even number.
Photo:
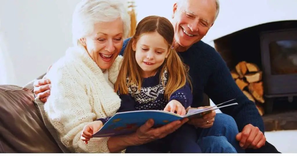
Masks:
[[[80,139],[83,127],[96,119],[84,86],[68,70],[52,67],[48,76],[51,92],[45,112],[55,127],[61,142],[72,152],[107,153],[108,138],[93,138],[86,145]]]

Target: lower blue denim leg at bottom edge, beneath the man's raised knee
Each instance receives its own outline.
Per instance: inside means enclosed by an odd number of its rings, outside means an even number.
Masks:
[[[198,140],[202,153],[237,153],[225,136],[206,136]]]

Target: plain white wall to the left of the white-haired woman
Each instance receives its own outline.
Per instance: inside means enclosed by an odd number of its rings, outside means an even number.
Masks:
[[[45,73],[71,41],[71,17],[79,0],[1,0],[1,29],[15,81],[24,85]],[[3,76],[3,75],[1,75]]]

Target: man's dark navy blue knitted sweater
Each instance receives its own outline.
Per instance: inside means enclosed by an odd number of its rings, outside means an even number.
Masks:
[[[123,55],[129,40],[124,41],[120,55]],[[245,125],[252,124],[259,127],[264,133],[263,119],[255,103],[250,101],[238,88],[225,61],[213,47],[199,41],[187,51],[178,54],[183,62],[189,66],[193,89],[192,107],[201,106],[203,92],[215,104],[236,99],[238,105],[221,108],[220,110],[235,119],[239,132],[242,131]]]

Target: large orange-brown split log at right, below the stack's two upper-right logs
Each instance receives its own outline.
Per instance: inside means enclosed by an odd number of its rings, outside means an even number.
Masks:
[[[264,103],[265,100],[263,98],[263,82],[249,83],[248,85],[249,92],[253,95],[253,97],[259,101],[260,103]]]

